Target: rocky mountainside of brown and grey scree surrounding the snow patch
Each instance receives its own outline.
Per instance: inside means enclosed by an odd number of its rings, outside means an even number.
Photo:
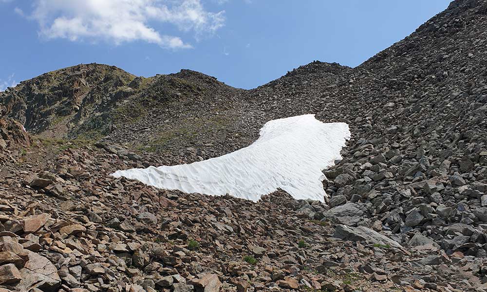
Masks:
[[[320,201],[112,178],[346,122]],[[0,292],[487,291],[487,0],[455,0],[356,68],[253,90],[82,64],[0,92]],[[285,159],[285,158],[283,158]]]

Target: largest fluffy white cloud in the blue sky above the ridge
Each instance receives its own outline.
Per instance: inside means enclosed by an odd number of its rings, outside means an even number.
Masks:
[[[115,44],[142,40],[178,49],[191,45],[150,23],[173,25],[198,40],[224,26],[224,14],[206,11],[200,0],[35,0],[29,18],[39,23],[39,36],[47,39],[101,39]]]

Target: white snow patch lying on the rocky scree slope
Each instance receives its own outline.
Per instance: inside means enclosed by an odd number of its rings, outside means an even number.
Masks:
[[[341,159],[350,139],[345,123],[322,123],[306,114],[265,123],[252,145],[192,164],[118,170],[126,177],[162,189],[231,196],[258,201],[281,188],[295,199],[324,201],[321,172]]]

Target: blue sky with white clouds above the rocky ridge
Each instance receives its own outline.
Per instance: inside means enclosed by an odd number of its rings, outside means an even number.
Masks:
[[[255,88],[313,60],[355,67],[448,0],[0,0],[0,90],[80,63],[191,69]]]

